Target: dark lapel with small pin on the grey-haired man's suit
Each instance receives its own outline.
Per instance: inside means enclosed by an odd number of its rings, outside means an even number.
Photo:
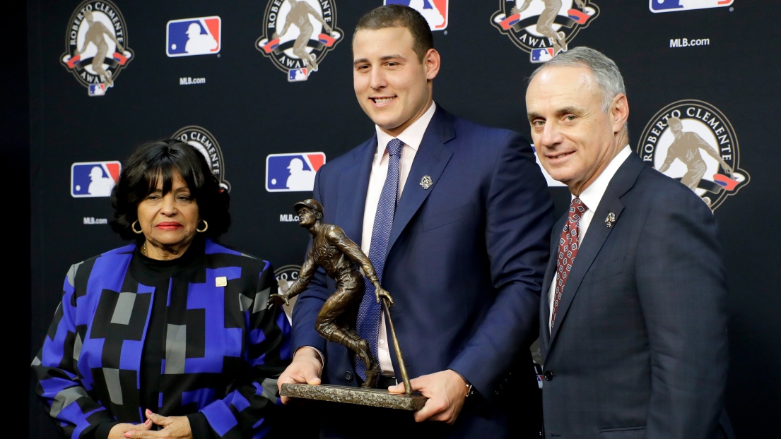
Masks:
[[[608,239],[608,235],[613,230],[613,228],[608,228],[604,224],[604,218],[608,216],[608,212],[613,212],[615,220],[619,221],[621,212],[624,210],[624,205],[621,203],[620,198],[634,185],[634,182],[637,181],[637,176],[640,175],[640,171],[644,167],[643,161],[636,154],[629,154],[629,158],[626,158],[626,161],[622,163],[619,170],[613,175],[610,183],[608,183],[608,189],[604,191],[597,211],[594,212],[594,218],[591,219],[586,237],[583,238],[583,243],[578,250],[575,264],[572,265],[572,271],[569,273],[567,284],[562,293],[562,300],[558,303],[556,321],[551,332],[550,346],[556,341],[558,328],[562,326],[562,322],[567,316],[569,305],[578,293],[583,277],[587,274],[604,241]],[[553,253],[554,257],[555,251]],[[548,286],[550,287],[550,284]],[[550,351],[550,349],[548,350]]]

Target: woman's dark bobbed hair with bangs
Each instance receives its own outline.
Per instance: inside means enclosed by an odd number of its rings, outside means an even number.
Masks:
[[[137,235],[130,229],[138,219],[138,204],[155,191],[158,179],[162,179],[163,195],[169,193],[177,172],[198,202],[201,219],[209,222],[209,228],[199,235],[216,238],[226,232],[230,226],[228,191],[219,186],[219,180],[212,174],[203,154],[178,139],[144,143],[127,159],[119,173],[119,181],[111,191],[114,207],[111,228],[114,232],[123,239],[143,239],[143,234]]]

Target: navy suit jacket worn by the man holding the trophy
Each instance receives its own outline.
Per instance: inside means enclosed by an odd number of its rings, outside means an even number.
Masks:
[[[330,161],[315,180],[324,221],[341,226],[358,244],[376,144],[374,136]],[[429,189],[419,185],[424,175],[433,180]],[[505,437],[509,405],[502,394],[510,387],[523,388],[506,395],[519,399],[515,420],[533,418],[539,391],[529,346],[537,338],[553,221],[550,195],[529,143],[512,131],[476,125],[437,108],[398,202],[382,285],[396,303],[391,313],[410,377],[450,368],[480,396],[470,397],[455,426],[415,425],[411,412],[389,409],[362,415],[366,409],[358,405],[322,409],[330,416],[326,436],[366,437],[355,425],[366,416],[373,437],[385,432]],[[351,353],[326,343],[314,329],[333,291],[333,281],[321,269],[298,297],[293,349],[309,345],[325,353],[323,383],[356,386]],[[523,427],[539,430],[539,425],[537,418]]]

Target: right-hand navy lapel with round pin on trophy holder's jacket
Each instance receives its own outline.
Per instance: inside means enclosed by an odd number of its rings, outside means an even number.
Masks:
[[[445,147],[444,143],[453,138],[455,138],[455,126],[452,116],[441,107],[437,107],[437,112],[434,113],[431,122],[429,122],[426,133],[423,135],[423,141],[415,154],[415,161],[412,162],[412,168],[409,170],[404,192],[401,193],[401,199],[398,200],[391,227],[391,237],[388,239],[385,253],[386,257],[423,201],[432,190],[437,189],[437,181],[453,155],[453,152]],[[433,186],[429,189],[423,189],[423,186],[418,184],[423,175],[429,175],[433,181]],[[365,199],[366,191],[364,192]]]

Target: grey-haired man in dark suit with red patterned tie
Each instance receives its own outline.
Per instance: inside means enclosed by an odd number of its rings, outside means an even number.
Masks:
[[[618,67],[574,48],[526,90],[537,155],[572,193],[540,302],[544,437],[718,437],[727,370],[716,221],[629,147]]]

